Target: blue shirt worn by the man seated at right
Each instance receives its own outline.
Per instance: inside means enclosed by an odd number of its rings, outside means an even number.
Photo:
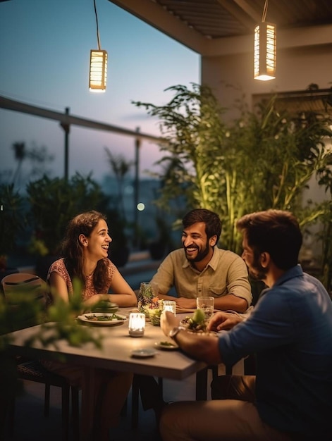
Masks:
[[[247,321],[221,335],[219,350],[230,365],[257,355],[257,409],[270,426],[316,436],[331,430],[332,302],[299,265],[265,290]]]

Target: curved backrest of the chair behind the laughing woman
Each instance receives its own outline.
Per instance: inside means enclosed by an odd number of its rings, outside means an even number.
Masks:
[[[47,283],[35,274],[13,273],[1,280],[1,287],[9,306],[12,329],[37,324],[47,302]]]

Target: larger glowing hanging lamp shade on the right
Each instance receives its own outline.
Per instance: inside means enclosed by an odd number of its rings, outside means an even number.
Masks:
[[[254,79],[276,77],[276,25],[262,22],[254,30]]]

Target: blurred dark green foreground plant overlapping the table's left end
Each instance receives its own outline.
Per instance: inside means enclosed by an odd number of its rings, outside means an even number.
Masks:
[[[57,347],[60,340],[66,340],[68,344],[80,347],[82,344],[91,342],[96,347],[102,347],[102,336],[92,332],[90,327],[80,325],[75,318],[84,310],[82,306],[81,284],[73,280],[73,297],[69,303],[61,300],[44,309],[41,302],[35,302],[22,291],[22,295],[16,297],[15,308],[7,304],[4,296],[0,296],[0,439],[4,439],[6,412],[11,406],[18,392],[18,379],[16,374],[16,360],[8,351],[13,337],[12,330],[22,328],[22,321],[27,316],[31,323],[41,324],[33,337],[25,340],[25,346],[29,347],[35,342],[42,347]],[[66,359],[59,356],[59,361]]]

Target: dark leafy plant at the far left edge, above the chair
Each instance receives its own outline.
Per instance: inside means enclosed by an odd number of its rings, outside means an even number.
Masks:
[[[0,278],[7,273],[17,272],[8,268],[8,255],[15,251],[18,235],[25,227],[23,197],[14,189],[13,184],[0,185]]]

